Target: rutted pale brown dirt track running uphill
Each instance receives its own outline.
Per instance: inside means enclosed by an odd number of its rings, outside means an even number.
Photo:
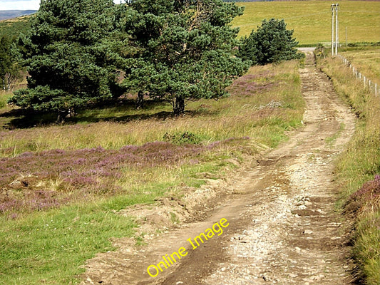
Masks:
[[[307,102],[304,127],[288,142],[220,181],[225,195],[202,222],[183,224],[148,245],[128,239],[88,261],[82,284],[349,284],[351,264],[342,217],[334,212],[332,162],[354,131],[354,115],[314,67],[300,69]],[[214,189],[218,185],[214,185]],[[225,218],[224,232],[196,249],[194,239]],[[165,254],[188,254],[155,278],[146,269]],[[152,269],[153,274],[155,270]]]

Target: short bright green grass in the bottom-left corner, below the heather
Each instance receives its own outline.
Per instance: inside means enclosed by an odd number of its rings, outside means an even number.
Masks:
[[[111,237],[132,237],[135,223],[101,210],[71,206],[0,222],[0,284],[75,284],[80,266],[113,249]]]

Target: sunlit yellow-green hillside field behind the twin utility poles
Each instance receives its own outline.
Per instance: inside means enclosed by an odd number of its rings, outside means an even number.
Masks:
[[[294,29],[300,45],[331,41],[331,1],[272,1],[237,3],[245,6],[243,16],[232,24],[240,35],[248,35],[260,26],[262,19],[284,19]],[[339,1],[339,39],[346,42],[380,41],[380,1]]]

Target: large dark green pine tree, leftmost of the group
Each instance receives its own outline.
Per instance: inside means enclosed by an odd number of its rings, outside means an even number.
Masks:
[[[10,102],[62,118],[111,98],[118,58],[109,43],[114,18],[112,0],[41,1],[31,34],[20,39],[28,88],[16,91]]]

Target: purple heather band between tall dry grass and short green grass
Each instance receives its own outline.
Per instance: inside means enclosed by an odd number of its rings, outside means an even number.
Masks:
[[[179,167],[187,157],[196,158],[210,147],[149,142],[119,150],[103,147],[46,150],[2,158],[0,212],[49,209],[66,204],[78,195],[86,200],[91,195],[120,193],[125,189],[115,182],[128,175],[126,166],[137,172],[154,167]]]

